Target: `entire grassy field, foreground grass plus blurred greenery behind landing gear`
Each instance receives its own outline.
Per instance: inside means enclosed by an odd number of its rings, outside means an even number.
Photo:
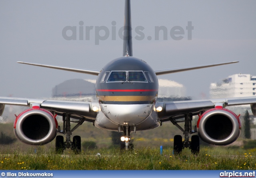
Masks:
[[[12,124],[0,124],[6,135],[15,138]],[[98,149],[84,150],[74,155],[70,149],[64,155],[54,152],[55,141],[43,146],[31,146],[16,141],[0,145],[0,170],[248,170],[256,169],[256,149],[203,146],[199,155],[184,149],[181,155],[172,154],[173,137],[181,134],[172,123],[160,128],[132,134],[134,151],[120,152],[112,146],[110,132],[84,123],[73,135],[83,141],[94,141]],[[243,142],[242,135],[235,142]],[[249,142],[249,141],[247,141]],[[160,155],[159,147],[164,147]],[[36,153],[35,153],[36,149]],[[96,156],[100,153],[101,156]],[[245,155],[246,154],[246,155]]]

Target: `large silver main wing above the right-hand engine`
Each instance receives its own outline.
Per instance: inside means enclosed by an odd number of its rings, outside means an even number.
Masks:
[[[159,119],[170,121],[172,119],[184,118],[184,115],[190,113],[198,115],[202,111],[216,108],[216,106],[238,106],[250,104],[252,113],[256,116],[256,97],[243,98],[223,98],[212,100],[194,100],[194,101],[178,101],[178,102],[159,102],[156,103],[155,108],[161,107],[162,111],[157,112]]]

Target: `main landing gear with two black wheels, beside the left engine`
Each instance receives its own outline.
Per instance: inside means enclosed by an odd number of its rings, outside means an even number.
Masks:
[[[57,135],[55,139],[55,151],[57,154],[62,154],[64,149],[71,148],[75,154],[78,154],[81,152],[81,137],[76,135],[73,137],[73,141],[70,139],[70,135],[72,135],[72,132],[77,129],[82,123],[84,122],[84,119],[80,121],[70,121],[70,115],[62,115],[63,119],[63,130],[60,130],[60,126],[58,128],[58,133],[66,134],[66,142],[64,142],[64,137],[62,135]],[[76,122],[76,126],[71,129],[70,128],[70,122]]]

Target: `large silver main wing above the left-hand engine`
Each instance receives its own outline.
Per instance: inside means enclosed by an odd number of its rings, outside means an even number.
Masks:
[[[61,100],[41,100],[41,99],[28,99],[28,98],[0,98],[0,115],[4,111],[5,105],[14,106],[39,106],[40,109],[52,111],[57,115],[68,113],[71,118],[84,119],[85,121],[93,122],[96,118],[97,112],[93,111],[94,106],[98,106],[97,102],[73,102]]]

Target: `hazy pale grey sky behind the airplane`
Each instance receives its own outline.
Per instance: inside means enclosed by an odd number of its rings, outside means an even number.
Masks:
[[[143,26],[145,38],[133,39],[133,55],[154,70],[212,64],[240,63],[176,74],[162,75],[183,84],[187,95],[208,97],[211,82],[236,73],[256,75],[256,1],[171,1],[131,0],[132,26]],[[84,40],[78,40],[79,22],[84,22]],[[122,55],[122,40],[111,38],[112,21],[116,31],[124,21],[124,0],[0,1],[0,96],[50,97],[56,85],[72,78],[95,76],[40,68],[16,61],[100,70],[108,61]],[[192,40],[186,26],[192,22]],[[77,27],[77,40],[65,40],[62,29]],[[94,26],[90,40],[85,27]],[[95,45],[95,26],[106,26],[110,37]],[[168,29],[168,40],[154,40],[155,26]],[[170,37],[180,26],[182,40]],[[117,32],[118,33],[118,32]],[[104,35],[101,34],[101,35]],[[133,37],[136,33],[133,31]],[[147,39],[152,36],[152,40]]]

